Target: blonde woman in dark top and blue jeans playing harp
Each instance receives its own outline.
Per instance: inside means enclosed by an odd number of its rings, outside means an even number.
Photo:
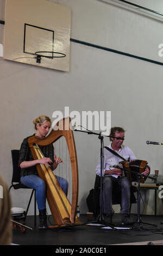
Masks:
[[[33,121],[36,133],[35,137],[40,139],[45,138],[49,132],[52,121],[46,115],[40,115]],[[34,136],[32,135],[32,136]],[[29,136],[29,137],[32,137]],[[41,151],[44,155],[43,158],[34,160],[31,150],[28,145],[28,138],[25,138],[21,144],[19,166],[21,168],[21,183],[34,188],[36,190],[36,202],[37,208],[39,209],[39,228],[47,228],[47,217],[46,217],[46,184],[37,173],[36,164],[45,164],[51,167],[52,170],[56,169],[58,164],[62,162],[60,157],[54,155],[53,144],[40,146]],[[66,179],[56,176],[62,190],[67,195],[68,182]]]

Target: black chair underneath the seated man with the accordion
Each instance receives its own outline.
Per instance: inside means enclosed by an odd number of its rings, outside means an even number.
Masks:
[[[101,188],[100,188],[100,184],[101,184],[101,178],[100,176],[96,175],[96,179],[95,179],[95,186],[94,186],[94,191],[93,191],[93,205],[94,205],[94,214],[95,217],[97,214],[100,213],[100,192],[101,192]],[[130,188],[130,210],[131,210],[131,204],[137,203],[136,202],[136,198],[134,193],[137,190],[135,190],[135,187],[131,186]],[[112,191],[112,204],[120,204],[121,205],[121,188],[120,186],[117,187],[113,187],[113,191]]]

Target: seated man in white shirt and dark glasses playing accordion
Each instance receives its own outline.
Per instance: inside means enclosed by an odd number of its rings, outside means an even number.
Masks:
[[[111,144],[108,148],[114,150],[118,155],[126,160],[135,160],[136,157],[129,147],[122,145],[124,141],[124,129],[122,127],[112,127],[110,132]],[[129,218],[130,214],[130,181],[127,176],[122,176],[122,170],[110,166],[117,165],[122,159],[107,149],[104,149],[104,165],[103,165],[103,206],[105,221],[112,222],[112,187],[120,186],[122,192],[121,214],[122,224],[132,224]],[[99,159],[96,174],[101,176],[101,161]],[[146,167],[142,174],[148,175],[149,169]]]

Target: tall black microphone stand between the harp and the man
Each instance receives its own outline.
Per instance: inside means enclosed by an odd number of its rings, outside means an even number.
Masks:
[[[81,126],[82,127],[82,126]],[[87,129],[86,129],[87,130]],[[103,159],[104,159],[104,155],[103,155],[103,141],[104,141],[104,137],[101,135],[100,133],[95,133],[92,131],[80,131],[80,130],[74,130],[74,131],[79,131],[79,132],[86,132],[87,134],[93,134],[93,135],[98,135],[98,138],[100,139],[101,142],[101,148],[100,148],[100,162],[101,162],[101,176],[100,176],[100,215],[98,216],[98,220],[95,222],[98,222],[99,224],[103,224],[103,225],[109,225],[110,228],[112,228],[113,230],[116,230],[116,228],[114,227],[114,225],[112,225],[109,222],[105,222],[104,221],[104,216],[103,216]],[[106,136],[109,137],[109,136]],[[91,222],[92,223],[92,222]]]

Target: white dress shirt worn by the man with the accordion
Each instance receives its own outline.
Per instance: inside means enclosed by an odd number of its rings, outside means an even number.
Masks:
[[[112,149],[111,144],[108,145],[108,148]],[[131,161],[131,160],[136,159],[133,151],[129,147],[126,147],[124,145],[121,146],[120,150],[118,150],[118,151],[114,150],[114,151],[126,160]],[[108,149],[104,148],[104,163],[103,163],[102,175],[104,176],[105,170],[114,169],[113,167],[110,167],[110,166],[118,165],[119,162],[121,162],[121,161],[123,161],[123,160],[120,157],[115,156]],[[99,156],[98,164],[96,167],[96,174],[98,176],[101,176],[101,158],[100,158],[100,156]],[[109,175],[112,175],[115,178],[118,177],[118,175],[115,175],[115,174],[109,174]],[[109,176],[109,175],[107,175],[107,176]]]

